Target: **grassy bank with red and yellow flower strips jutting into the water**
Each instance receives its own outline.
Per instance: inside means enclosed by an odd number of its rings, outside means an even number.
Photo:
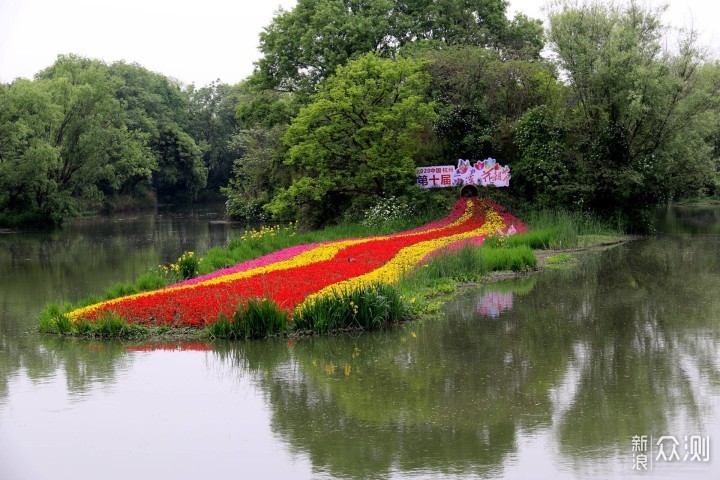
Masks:
[[[550,217],[540,218],[547,223]],[[432,313],[438,308],[437,298],[455,291],[456,283],[481,281],[489,272],[536,269],[533,249],[607,243],[609,235],[598,233],[596,226],[593,233],[580,233],[579,223],[568,220],[567,215],[554,218],[562,222],[512,235],[526,228],[502,207],[490,201],[462,200],[445,219],[402,233],[284,249],[273,247],[294,243],[297,232],[293,227],[263,228],[233,239],[226,249],[211,250],[204,259],[184,254],[176,264],[150,272],[135,284],[111,288],[104,299],[51,304],[41,316],[39,329],[86,337],[184,338],[193,332],[172,330],[189,326],[196,329],[198,337],[261,338],[384,328]],[[337,234],[337,229],[333,233]],[[322,237],[322,232],[314,234]],[[592,236],[602,239],[588,240]],[[248,247],[258,243],[274,253],[253,255],[253,248]],[[237,263],[238,256],[255,260]],[[218,270],[219,259],[235,266]],[[203,274],[201,266],[209,267],[211,273]],[[304,269],[307,279],[301,280]],[[342,273],[345,270],[347,273]],[[362,273],[365,270],[367,274]],[[182,278],[200,276],[166,286],[180,274]],[[318,284],[318,280],[324,283]],[[277,286],[273,287],[273,282]],[[230,293],[225,285],[240,286],[244,289],[240,298],[250,300],[242,300],[237,307],[229,305],[223,299],[237,298],[238,293]],[[308,293],[303,293],[307,288]],[[220,310],[209,313],[208,306],[214,301],[220,302]],[[208,318],[216,320],[208,322]]]

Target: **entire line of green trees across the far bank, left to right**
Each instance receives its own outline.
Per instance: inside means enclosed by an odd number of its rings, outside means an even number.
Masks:
[[[692,32],[632,1],[558,3],[547,31],[506,6],[299,0],[250,77],[199,90],[60,57],[0,90],[0,212],[220,190],[231,217],[319,226],[426,201],[416,166],[489,156],[512,169],[508,201],[636,229],[718,193],[720,67]]]

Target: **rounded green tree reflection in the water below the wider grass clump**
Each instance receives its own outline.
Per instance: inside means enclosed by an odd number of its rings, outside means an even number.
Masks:
[[[493,476],[515,453],[518,429],[549,424],[548,389],[563,371],[562,356],[536,361],[523,332],[475,315],[219,354],[257,379],[274,431],[318,470]],[[569,344],[556,330],[531,333],[555,350]]]

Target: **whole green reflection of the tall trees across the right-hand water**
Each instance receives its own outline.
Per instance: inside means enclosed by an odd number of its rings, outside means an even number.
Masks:
[[[274,431],[331,475],[498,475],[520,435],[548,429],[577,461],[625,456],[632,435],[712,413],[697,380],[720,387],[712,242],[588,256],[538,275],[498,319],[477,315],[482,292],[468,291],[442,320],[221,355],[261,385]]]

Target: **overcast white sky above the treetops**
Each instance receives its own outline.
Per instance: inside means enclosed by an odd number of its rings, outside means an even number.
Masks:
[[[296,0],[0,0],[0,82],[32,78],[57,55],[125,60],[185,84],[236,83],[259,57],[258,34]],[[544,18],[545,0],[509,12]],[[659,5],[649,0],[647,5]],[[665,20],[693,24],[717,56],[720,1],[670,0]]]

